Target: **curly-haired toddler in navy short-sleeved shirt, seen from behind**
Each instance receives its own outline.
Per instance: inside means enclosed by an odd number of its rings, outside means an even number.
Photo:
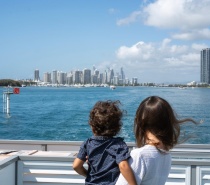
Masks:
[[[119,104],[120,101],[99,101],[90,111],[93,136],[83,142],[73,164],[74,170],[86,177],[87,185],[114,185],[120,173],[129,185],[136,185],[127,161],[129,149],[121,137],[114,137],[122,127]],[[88,170],[83,166],[87,158]]]

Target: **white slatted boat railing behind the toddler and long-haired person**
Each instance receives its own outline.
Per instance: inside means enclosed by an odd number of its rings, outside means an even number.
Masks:
[[[0,161],[0,185],[84,184],[84,178],[72,168],[80,144],[0,141],[0,149],[22,150]],[[134,143],[127,144],[131,149],[135,147]],[[172,167],[166,185],[210,185],[210,145],[177,145],[171,154]]]

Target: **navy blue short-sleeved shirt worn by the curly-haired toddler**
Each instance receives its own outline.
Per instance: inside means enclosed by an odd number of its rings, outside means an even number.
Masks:
[[[120,170],[118,164],[130,157],[129,149],[122,138],[92,136],[80,147],[77,158],[86,161],[88,174],[86,185],[114,185]]]

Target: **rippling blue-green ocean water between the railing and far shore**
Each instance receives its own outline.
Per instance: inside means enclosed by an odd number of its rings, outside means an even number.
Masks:
[[[5,88],[0,88],[3,94]],[[120,100],[123,117],[121,137],[134,142],[133,120],[139,103],[151,95],[172,105],[179,118],[191,117],[203,123],[182,126],[182,135],[192,136],[187,143],[210,143],[210,88],[170,87],[23,87],[10,96],[10,117],[0,101],[0,139],[83,141],[92,135],[89,111],[99,100]]]

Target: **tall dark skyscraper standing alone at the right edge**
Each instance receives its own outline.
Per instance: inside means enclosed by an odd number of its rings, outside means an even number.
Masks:
[[[201,51],[201,83],[210,84],[210,48]]]

